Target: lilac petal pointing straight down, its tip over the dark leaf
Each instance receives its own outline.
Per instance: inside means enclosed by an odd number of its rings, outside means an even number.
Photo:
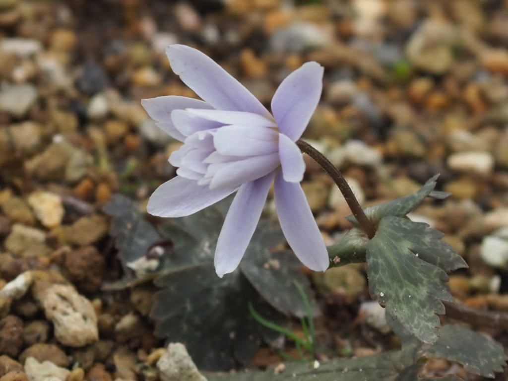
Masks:
[[[219,277],[238,267],[258,225],[272,181],[270,173],[238,189],[215,249],[215,271]]]

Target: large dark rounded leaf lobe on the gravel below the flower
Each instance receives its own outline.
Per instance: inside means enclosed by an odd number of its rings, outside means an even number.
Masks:
[[[239,271],[219,278],[213,263],[180,267],[155,284],[162,288],[151,311],[155,334],[184,343],[200,369],[230,369],[235,359],[248,364],[256,353],[263,327],[250,315],[249,301],[268,319],[281,321]]]

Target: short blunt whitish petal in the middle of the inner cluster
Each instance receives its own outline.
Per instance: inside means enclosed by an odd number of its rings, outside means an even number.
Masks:
[[[269,127],[226,125],[213,136],[213,145],[221,155],[265,155],[277,152],[277,136]]]

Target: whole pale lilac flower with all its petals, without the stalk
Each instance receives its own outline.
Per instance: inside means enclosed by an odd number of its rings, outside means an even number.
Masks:
[[[234,271],[258,224],[273,181],[279,223],[308,268],[329,259],[300,181],[305,171],[296,145],[321,97],[323,67],[307,62],[280,84],[268,110],[211,58],[184,45],[166,53],[173,71],[203,101],[166,96],[142,105],[157,125],[183,142],[169,162],[177,177],[158,187],[150,214],[182,217],[237,192],[220,232],[215,270]]]

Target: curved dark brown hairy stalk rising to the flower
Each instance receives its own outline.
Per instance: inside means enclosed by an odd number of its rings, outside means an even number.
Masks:
[[[372,239],[376,233],[376,229],[363,212],[360,203],[356,199],[355,194],[353,193],[353,190],[347,183],[346,179],[344,176],[342,176],[342,173],[340,173],[340,171],[328,160],[324,154],[312,147],[310,144],[304,142],[301,139],[299,139],[296,144],[302,152],[312,157],[313,160],[319,164],[321,168],[323,168],[325,172],[328,173],[328,175],[330,175],[335,184],[337,184],[340,192],[342,193],[342,196],[344,196],[347,205],[350,207],[351,212],[360,224],[362,230],[367,234],[369,239]]]

